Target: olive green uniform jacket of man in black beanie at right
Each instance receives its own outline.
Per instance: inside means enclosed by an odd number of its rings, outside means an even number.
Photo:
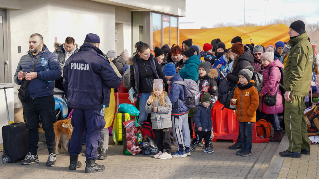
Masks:
[[[313,52],[308,41],[307,32],[290,39],[291,46],[288,54],[285,73],[285,91],[291,91],[292,95],[304,97],[309,94],[312,75]]]

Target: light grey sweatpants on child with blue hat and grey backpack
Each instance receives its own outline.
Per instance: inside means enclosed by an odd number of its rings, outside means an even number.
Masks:
[[[182,116],[172,116],[172,124],[178,150],[183,151],[185,147],[190,147],[188,113]]]

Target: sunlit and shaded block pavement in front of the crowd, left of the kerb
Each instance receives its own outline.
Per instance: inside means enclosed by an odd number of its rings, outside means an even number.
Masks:
[[[207,154],[202,148],[197,148],[185,158],[167,160],[154,159],[150,155],[123,155],[123,146],[114,145],[110,138],[108,158],[97,160],[105,165],[106,170],[99,173],[85,174],[85,155],[79,156],[82,167],[75,171],[69,170],[69,155],[63,149],[59,150],[56,165],[45,165],[48,157],[47,149],[38,151],[40,162],[22,166],[20,162],[0,165],[0,178],[5,179],[37,179],[37,178],[152,178],[152,179],[261,179],[275,153],[279,143],[253,144],[253,155],[242,157],[236,155],[236,150],[229,150],[232,142],[218,141],[213,144],[214,153]],[[85,147],[85,146],[83,146]],[[172,152],[177,148],[172,146]],[[84,149],[82,150],[84,151]],[[299,161],[300,162],[300,161]],[[315,169],[314,169],[315,170]]]

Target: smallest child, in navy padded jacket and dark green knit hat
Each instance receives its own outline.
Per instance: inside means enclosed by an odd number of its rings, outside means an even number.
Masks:
[[[211,95],[207,92],[204,92],[202,96],[202,104],[198,104],[194,110],[194,123],[195,123],[195,134],[196,138],[191,142],[191,150],[196,150],[196,144],[204,138],[205,142],[205,153],[213,153],[214,151],[209,146],[211,139],[211,109],[209,105],[211,104]]]

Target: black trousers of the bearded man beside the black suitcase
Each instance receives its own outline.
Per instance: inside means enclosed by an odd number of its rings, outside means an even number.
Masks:
[[[54,106],[53,96],[28,98],[28,102],[22,104],[23,119],[26,123],[26,128],[29,130],[29,150],[32,155],[36,155],[39,148],[39,116],[45,132],[49,154],[55,154],[56,141],[53,123],[56,122],[56,116]]]

